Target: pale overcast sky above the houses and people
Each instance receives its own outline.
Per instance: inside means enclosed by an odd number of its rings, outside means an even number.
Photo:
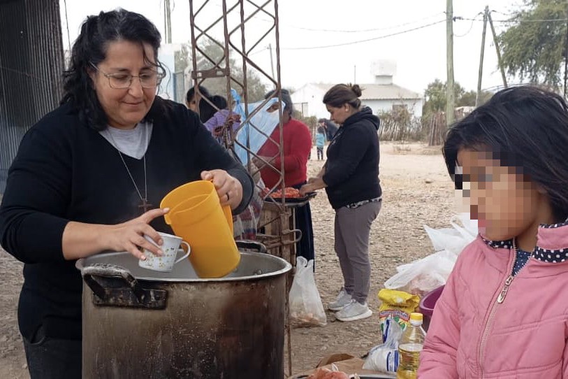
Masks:
[[[191,39],[189,1],[171,0],[172,42]],[[229,6],[235,0],[227,1]],[[257,0],[263,3],[263,0]],[[479,70],[483,17],[479,15],[488,1],[453,0],[454,16],[471,20],[454,22],[455,78],[466,90],[475,90]],[[195,0],[194,4],[203,1]],[[64,46],[73,43],[80,24],[87,15],[122,7],[142,13],[163,34],[162,0],[60,0]],[[491,0],[495,10],[497,33],[507,14],[518,7],[518,0]],[[199,22],[205,27],[221,13],[221,0],[212,0],[203,10]],[[280,0],[280,64],[282,85],[299,88],[305,83],[372,83],[370,66],[377,59],[396,62],[394,81],[409,90],[423,93],[436,78],[446,80],[446,0]],[[273,12],[271,12],[273,13]],[[238,13],[235,13],[237,17]],[[432,24],[430,26],[426,26]],[[235,25],[232,22],[231,25]],[[69,37],[67,36],[67,26]],[[251,45],[270,26],[268,16],[259,15],[247,23],[247,45]],[[419,29],[418,29],[419,28]],[[410,29],[416,29],[409,31]],[[222,29],[213,29],[219,38]],[[397,34],[400,33],[400,34]],[[388,36],[389,34],[397,34]],[[384,37],[384,38],[379,38]],[[357,41],[371,40],[357,43]],[[233,41],[240,44],[240,36]],[[271,34],[252,51],[252,59],[270,72],[268,43],[275,48]],[[344,45],[341,45],[344,44]],[[329,48],[322,46],[340,45]],[[486,38],[483,88],[502,84],[490,29]]]

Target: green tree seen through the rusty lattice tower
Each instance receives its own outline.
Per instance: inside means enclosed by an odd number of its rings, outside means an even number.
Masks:
[[[224,59],[223,49],[217,45],[217,43],[207,41],[200,45],[200,49],[205,53],[197,52],[197,67],[200,70],[212,69],[214,67],[214,63],[210,62],[210,59],[212,59],[215,63]],[[189,52],[191,51],[189,45],[187,45],[187,50]],[[205,56],[210,59],[207,59]],[[182,59],[180,58],[180,62],[181,61]],[[189,59],[189,62],[191,62],[191,59]],[[189,63],[189,65],[191,65],[191,63]],[[224,62],[222,62],[220,66],[225,66]],[[238,63],[231,55],[229,56],[229,66],[231,68],[232,76],[242,83],[242,66],[240,65],[240,62]],[[207,78],[203,81],[202,85],[209,90],[210,94],[220,94],[221,96],[228,95],[227,80],[225,77]],[[239,93],[242,92],[242,88],[240,88],[240,86],[235,82],[231,83],[231,87],[235,88],[235,90]],[[264,99],[266,92],[266,86],[262,83],[261,78],[251,69],[247,69],[247,97],[249,103]]]

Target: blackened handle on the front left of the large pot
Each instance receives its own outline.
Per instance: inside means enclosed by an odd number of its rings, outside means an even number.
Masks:
[[[168,292],[163,289],[145,289],[130,271],[115,264],[96,263],[81,270],[85,283],[92,289],[93,303],[99,306],[126,306],[133,308],[166,308]],[[108,287],[101,283],[113,283]]]

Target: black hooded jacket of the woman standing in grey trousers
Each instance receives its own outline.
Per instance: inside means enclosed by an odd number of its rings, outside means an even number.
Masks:
[[[379,117],[368,107],[345,120],[327,150],[323,182],[334,209],[381,196]]]

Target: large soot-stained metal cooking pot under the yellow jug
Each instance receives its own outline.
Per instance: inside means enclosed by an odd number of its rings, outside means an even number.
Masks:
[[[240,251],[237,269],[215,279],[189,260],[161,273],[128,252],[80,259],[82,377],[283,378],[291,265]]]

